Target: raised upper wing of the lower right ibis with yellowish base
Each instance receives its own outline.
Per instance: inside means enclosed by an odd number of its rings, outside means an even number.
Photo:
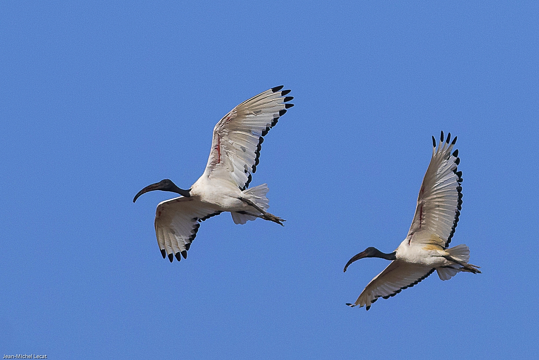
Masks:
[[[459,151],[451,153],[457,137],[450,140],[451,133],[444,141],[442,132],[437,149],[432,137],[432,159],[419,190],[416,215],[406,237],[409,242],[447,248],[455,233],[462,205],[462,172],[457,171]]]

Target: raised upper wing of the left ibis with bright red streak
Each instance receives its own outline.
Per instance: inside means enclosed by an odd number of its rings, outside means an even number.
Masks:
[[[286,96],[290,90],[281,89],[273,87],[244,101],[217,123],[204,175],[229,180],[242,191],[249,186],[264,136],[294,106],[285,104],[293,99]]]

